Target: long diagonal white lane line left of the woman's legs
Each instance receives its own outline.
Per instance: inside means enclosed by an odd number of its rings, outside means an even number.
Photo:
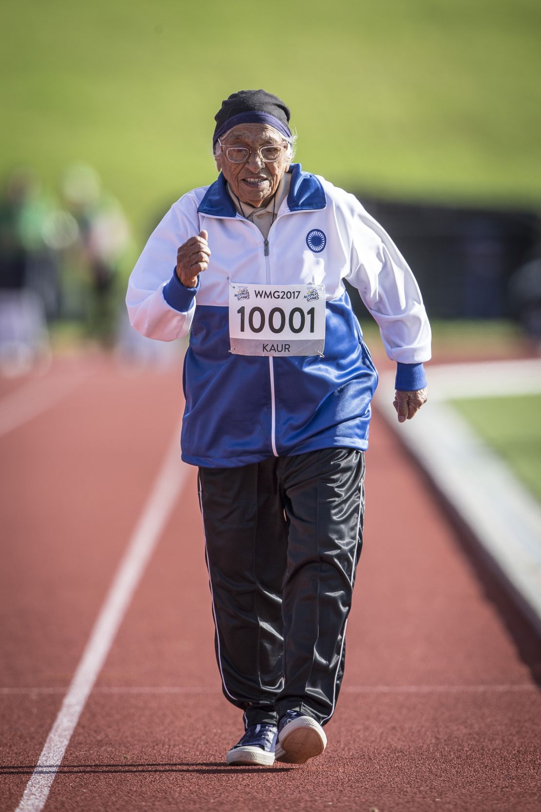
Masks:
[[[165,456],[152,493],[118,566],[62,707],[16,812],[41,812],[45,806],[54,776],[62,763],[79,716],[174,508],[179,491],[187,479],[188,467],[180,460],[179,435],[179,430],[175,430],[174,443]],[[40,772],[45,765],[47,773]]]

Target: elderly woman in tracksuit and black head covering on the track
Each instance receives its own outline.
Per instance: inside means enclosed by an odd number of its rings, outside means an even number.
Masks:
[[[127,292],[136,330],[190,335],[182,460],[199,468],[223,691],[243,710],[228,764],[321,754],[340,691],[377,382],[345,280],[397,362],[398,420],[427,400],[414,276],[353,195],[292,162],[289,122],[264,90],[222,103],[217,180],[171,207]]]

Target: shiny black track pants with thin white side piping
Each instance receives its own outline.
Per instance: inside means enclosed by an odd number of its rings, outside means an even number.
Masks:
[[[247,724],[333,715],[363,544],[364,454],[324,448],[200,468],[225,697]]]

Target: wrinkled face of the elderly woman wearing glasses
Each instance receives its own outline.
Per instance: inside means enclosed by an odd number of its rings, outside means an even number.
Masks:
[[[258,149],[271,145],[286,145],[280,132],[268,124],[238,124],[221,137],[223,150],[216,156],[218,170],[223,172],[232,192],[243,203],[260,208],[267,205],[278,188],[284,173],[289,169],[288,150],[283,149],[280,158],[273,163],[264,163]],[[251,154],[246,163],[232,163],[225,155],[228,147],[247,147]]]

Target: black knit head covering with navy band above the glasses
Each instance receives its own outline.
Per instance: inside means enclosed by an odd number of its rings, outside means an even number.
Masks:
[[[273,93],[266,90],[238,90],[221,102],[221,108],[214,116],[216,127],[213,144],[238,124],[269,124],[285,138],[291,138],[290,116],[290,108]]]

